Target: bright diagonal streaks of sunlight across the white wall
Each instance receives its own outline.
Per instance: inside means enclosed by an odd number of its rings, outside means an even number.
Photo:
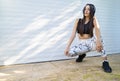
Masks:
[[[38,56],[38,54],[42,56],[41,52],[44,52],[46,50],[49,51],[48,49],[51,49],[54,46],[56,48],[59,45],[59,41],[63,40],[63,38],[66,37],[68,33],[70,33],[68,31],[71,30],[71,28],[66,32],[64,32],[64,30],[66,30],[66,28],[70,26],[70,23],[73,23],[75,17],[79,15],[79,13],[74,12],[78,8],[78,5],[75,4],[76,2],[74,4],[72,3],[72,5],[70,4],[70,6],[67,7],[67,10],[66,8],[63,9],[66,11],[60,13],[59,15],[56,15],[54,18],[45,18],[46,15],[49,14],[40,15],[34,18],[32,23],[28,24],[23,30],[18,32],[16,36],[19,36],[19,39],[11,42],[10,46],[8,44],[9,47],[16,47],[16,45],[20,43],[17,48],[20,48],[25,43],[27,43],[27,46],[24,47],[24,49],[21,50],[18,55],[8,58],[4,62],[4,65],[14,64],[18,60],[32,58],[34,56]],[[72,12],[74,13],[70,17],[68,14]],[[56,22],[59,23],[54,25]],[[52,26],[52,28],[49,26]],[[24,42],[24,39],[26,37],[29,37],[29,35],[32,35],[36,31],[37,33],[35,33],[31,39],[29,39],[27,42]],[[63,43],[63,45],[64,44],[65,43]],[[53,51],[54,50],[56,51],[58,49],[53,49]]]

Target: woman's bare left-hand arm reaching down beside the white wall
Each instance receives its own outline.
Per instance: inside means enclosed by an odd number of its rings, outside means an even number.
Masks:
[[[72,30],[72,34],[71,34],[70,39],[69,39],[69,41],[67,43],[67,46],[66,46],[66,49],[65,49],[65,54],[66,55],[68,54],[69,48],[70,48],[70,46],[71,46],[71,44],[72,44],[72,42],[73,42],[73,40],[74,40],[74,38],[76,36],[76,29],[77,29],[78,21],[79,21],[79,19],[76,19],[73,30]]]

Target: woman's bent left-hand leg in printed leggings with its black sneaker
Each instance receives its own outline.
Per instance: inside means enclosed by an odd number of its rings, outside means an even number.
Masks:
[[[69,55],[70,56],[78,56],[78,58],[76,59],[76,62],[82,62],[82,60],[85,58],[86,53],[89,52],[91,49],[91,47],[89,46],[89,44],[91,43],[91,39],[86,39],[86,40],[80,40],[79,45],[74,46],[70,49],[69,51]],[[93,46],[93,44],[92,44]]]

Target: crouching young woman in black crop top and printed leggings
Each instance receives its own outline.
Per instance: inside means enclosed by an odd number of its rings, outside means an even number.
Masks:
[[[103,42],[100,36],[100,26],[94,14],[95,6],[93,4],[86,4],[83,9],[83,18],[75,21],[72,35],[68,41],[64,53],[65,55],[71,57],[79,55],[76,62],[82,62],[87,52],[97,50],[98,52],[101,52],[104,60],[102,68],[105,72],[111,73],[112,69],[109,66],[107,55],[103,48]],[[76,33],[80,39],[79,45],[70,48]]]

